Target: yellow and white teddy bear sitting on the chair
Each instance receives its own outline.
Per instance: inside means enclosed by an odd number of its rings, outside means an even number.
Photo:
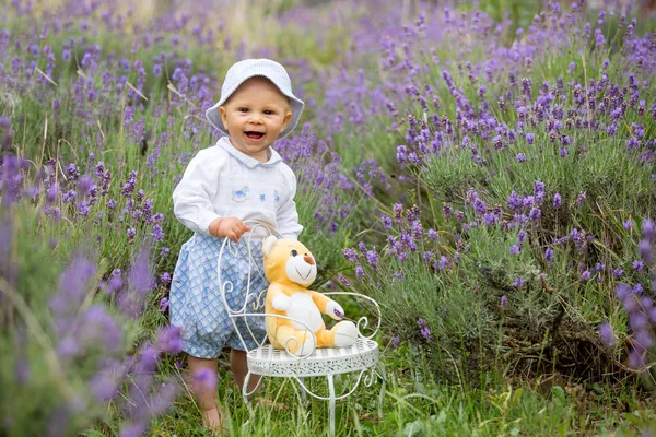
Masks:
[[[344,310],[335,300],[307,287],[317,276],[317,264],[309,250],[294,239],[269,236],[262,244],[265,274],[269,281],[265,311],[286,316],[267,317],[269,341],[295,356],[307,356],[315,347],[345,347],[358,340],[358,328],[342,320]],[[326,329],[321,314],[342,320]],[[316,338],[307,331],[312,329]]]

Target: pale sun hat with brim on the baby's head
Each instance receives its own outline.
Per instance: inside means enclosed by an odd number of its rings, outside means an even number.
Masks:
[[[246,59],[232,66],[225,74],[223,86],[221,86],[221,98],[214,106],[206,111],[206,116],[216,129],[227,134],[227,130],[221,120],[219,108],[225,104],[227,98],[241,84],[255,76],[267,78],[282,94],[289,97],[292,118],[286,128],[280,133],[280,137],[278,137],[279,139],[285,138],[294,130],[296,125],[298,125],[298,119],[301,118],[301,113],[303,113],[305,103],[292,93],[292,81],[284,67],[270,59]]]

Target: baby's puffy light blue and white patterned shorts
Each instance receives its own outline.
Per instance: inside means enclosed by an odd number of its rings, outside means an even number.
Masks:
[[[226,243],[221,257],[225,303],[218,274],[222,244],[222,238],[194,234],[183,245],[173,273],[171,323],[183,328],[183,350],[199,358],[216,358],[224,347],[255,349],[267,335],[263,317],[231,320],[225,307],[227,303],[232,314],[263,312],[265,290],[269,283],[263,273],[262,244],[259,240],[248,244],[246,236],[236,244]],[[249,277],[250,288],[246,296]]]

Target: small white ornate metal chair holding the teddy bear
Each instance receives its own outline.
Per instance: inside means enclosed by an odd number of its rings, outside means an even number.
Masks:
[[[269,235],[277,234],[269,226],[261,224],[259,222],[248,223],[248,224],[253,227],[251,233],[255,231],[256,227],[261,226],[268,231]],[[243,238],[249,238],[249,237],[244,236]],[[230,241],[226,238],[225,241],[223,243],[223,246],[221,247],[220,252],[219,252],[218,267],[220,265],[224,250],[225,250],[226,246],[229,246],[229,245],[230,245]],[[294,380],[296,380],[298,382],[298,385],[301,387],[304,402],[306,401],[306,393],[312,395],[313,398],[328,401],[329,402],[328,403],[329,417],[330,417],[330,427],[329,427],[330,436],[335,436],[336,401],[340,400],[340,399],[344,399],[344,398],[349,397],[350,394],[352,394],[358,389],[358,387],[360,387],[361,382],[366,387],[371,387],[374,383],[374,381],[379,378],[382,383],[380,383],[380,392],[378,395],[378,416],[382,417],[383,394],[385,392],[386,375],[385,375],[385,369],[378,359],[379,358],[378,343],[376,343],[374,340],[372,340],[378,332],[378,329],[380,328],[380,308],[379,308],[378,304],[376,303],[376,300],[372,299],[368,296],[359,294],[359,293],[348,293],[348,292],[323,293],[324,295],[327,295],[327,296],[333,296],[333,295],[335,296],[338,296],[338,295],[353,296],[353,297],[356,297],[359,299],[362,299],[362,300],[371,304],[370,306],[375,308],[375,310],[377,312],[376,314],[376,317],[377,317],[376,327],[373,330],[373,332],[371,332],[368,335],[364,335],[362,333],[362,330],[368,328],[368,319],[367,319],[367,317],[361,317],[356,322],[359,338],[358,338],[358,341],[353,345],[347,346],[347,347],[316,349],[311,354],[303,355],[303,356],[294,356],[289,351],[273,349],[273,346],[268,343],[266,335],[263,335],[263,338],[258,339],[258,338],[256,338],[256,335],[254,334],[254,332],[250,329],[248,330],[249,334],[250,334],[251,339],[255,341],[255,343],[258,344],[258,346],[256,349],[248,349],[247,343],[244,341],[244,339],[242,338],[242,335],[239,333],[239,330],[237,329],[237,320],[243,319],[244,322],[247,323],[247,320],[250,317],[283,318],[283,319],[288,319],[288,320],[293,320],[296,323],[305,326],[306,330],[308,331],[308,334],[312,334],[314,336],[314,332],[311,331],[311,329],[307,327],[307,324],[305,324],[301,320],[292,319],[292,318],[289,318],[285,316],[271,315],[271,314],[265,315],[263,307],[265,307],[266,291],[260,293],[260,295],[258,295],[258,296],[251,296],[251,298],[254,297],[255,302],[257,302],[257,307],[258,307],[257,310],[259,311],[261,309],[262,312],[253,312],[253,311],[247,312],[247,302],[249,299],[249,292],[250,292],[249,290],[247,291],[247,293],[245,295],[246,297],[244,300],[244,305],[242,305],[242,307],[239,307],[239,308],[232,308],[229,305],[227,299],[225,297],[225,293],[230,293],[232,291],[232,284],[229,281],[225,281],[225,283],[222,282],[220,268],[218,268],[218,274],[219,274],[219,285],[220,285],[224,305],[227,309],[231,321],[233,322],[233,324],[235,327],[235,331],[237,332],[239,340],[242,341],[242,345],[243,345],[244,350],[246,351],[246,356],[247,356],[248,373],[244,380],[244,388],[243,388],[242,395],[244,398],[244,402],[246,403],[246,405],[248,408],[250,417],[244,424],[244,426],[248,426],[248,424],[255,420],[255,411],[253,409],[253,405],[248,402],[248,398],[258,390],[258,387],[261,382],[261,379],[260,379],[258,385],[253,390],[249,391],[248,390],[248,381],[249,381],[251,375],[260,375],[262,377],[262,379],[263,379],[263,377],[293,378]],[[261,274],[263,275],[263,272],[261,272]],[[250,282],[248,284],[250,284]],[[248,285],[248,288],[249,288],[249,286],[250,285]],[[316,338],[315,338],[315,344],[316,344]],[[335,388],[335,376],[341,375],[341,374],[356,374],[356,377],[354,378],[354,382],[352,383],[352,387],[350,387],[350,389],[344,390],[345,392],[338,394],[338,393],[336,393],[336,388]],[[328,395],[325,397],[325,395],[320,395],[318,393],[313,392],[308,388],[308,386],[305,383],[304,378],[326,378],[327,382],[328,382]]]

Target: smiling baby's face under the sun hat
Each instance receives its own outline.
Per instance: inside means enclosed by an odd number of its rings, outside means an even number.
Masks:
[[[239,85],[219,113],[233,146],[261,163],[292,118],[289,99],[261,76]]]

